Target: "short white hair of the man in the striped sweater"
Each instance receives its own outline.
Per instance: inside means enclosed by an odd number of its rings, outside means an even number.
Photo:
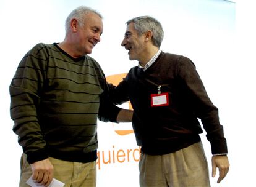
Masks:
[[[85,21],[85,15],[90,12],[97,14],[101,19],[103,18],[102,15],[96,10],[87,6],[79,6],[76,9],[72,10],[72,12],[69,14],[69,16],[66,19],[66,23],[65,23],[66,33],[68,33],[70,30],[70,22],[72,19],[74,18],[77,19],[79,22],[79,25],[81,26]]]

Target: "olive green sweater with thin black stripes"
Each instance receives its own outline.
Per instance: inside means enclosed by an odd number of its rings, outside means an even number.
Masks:
[[[88,55],[72,58],[57,44],[37,44],[23,57],[10,95],[13,130],[30,163],[48,156],[95,161],[97,117],[116,122],[120,110],[108,101],[100,65]]]

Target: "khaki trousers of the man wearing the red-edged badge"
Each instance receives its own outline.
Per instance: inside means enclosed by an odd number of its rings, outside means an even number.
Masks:
[[[141,154],[140,187],[209,187],[207,159],[202,143],[174,153]]]

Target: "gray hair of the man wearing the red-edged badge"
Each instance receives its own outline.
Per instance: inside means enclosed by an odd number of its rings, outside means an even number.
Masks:
[[[134,23],[134,29],[138,31],[139,36],[146,33],[148,30],[153,32],[152,42],[153,45],[160,48],[163,41],[163,28],[160,22],[150,16],[140,16],[130,19],[126,22],[127,25]]]

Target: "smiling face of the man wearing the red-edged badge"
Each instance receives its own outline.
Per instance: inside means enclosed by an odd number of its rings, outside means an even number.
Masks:
[[[145,53],[145,35],[142,34],[139,36],[137,30],[134,29],[134,23],[127,25],[121,46],[129,50],[128,55],[130,60],[142,61],[143,54]]]

